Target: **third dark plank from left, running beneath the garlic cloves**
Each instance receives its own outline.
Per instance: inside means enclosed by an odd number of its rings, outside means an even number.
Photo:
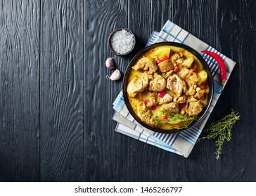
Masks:
[[[127,154],[124,136],[114,132],[113,102],[122,90],[122,79],[114,82],[105,76],[113,73],[105,59],[114,57],[122,73],[127,57],[119,58],[108,48],[108,34],[127,27],[127,1],[86,1],[84,24],[84,171],[85,181],[127,181],[123,158]]]

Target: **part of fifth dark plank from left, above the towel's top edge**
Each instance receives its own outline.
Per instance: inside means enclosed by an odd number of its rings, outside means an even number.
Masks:
[[[219,48],[219,41],[217,40],[217,2],[209,0],[174,0],[172,22],[212,47]]]

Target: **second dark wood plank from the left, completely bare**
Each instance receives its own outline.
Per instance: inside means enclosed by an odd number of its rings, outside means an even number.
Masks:
[[[82,181],[84,2],[42,1],[41,181]]]

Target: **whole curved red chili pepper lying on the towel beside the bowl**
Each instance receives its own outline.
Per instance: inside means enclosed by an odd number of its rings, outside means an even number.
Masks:
[[[207,51],[207,50],[202,50],[201,52],[213,57],[217,61],[217,63],[219,64],[219,79],[220,79],[220,82],[222,83],[222,90],[223,90],[223,86],[224,86],[224,83],[226,81],[226,66],[224,64],[224,61],[223,61],[222,57],[220,57],[215,52],[210,52],[210,51]],[[219,93],[221,93],[221,92],[219,92]]]

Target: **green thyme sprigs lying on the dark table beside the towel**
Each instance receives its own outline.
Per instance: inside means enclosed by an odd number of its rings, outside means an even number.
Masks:
[[[240,120],[240,116],[238,116],[238,112],[231,109],[231,113],[229,115],[224,116],[221,120],[216,123],[212,123],[205,132],[207,132],[206,137],[201,137],[197,142],[202,139],[216,139],[215,140],[215,158],[219,160],[220,155],[222,154],[222,145],[224,141],[231,140],[231,129],[233,125],[236,123],[236,120]]]

